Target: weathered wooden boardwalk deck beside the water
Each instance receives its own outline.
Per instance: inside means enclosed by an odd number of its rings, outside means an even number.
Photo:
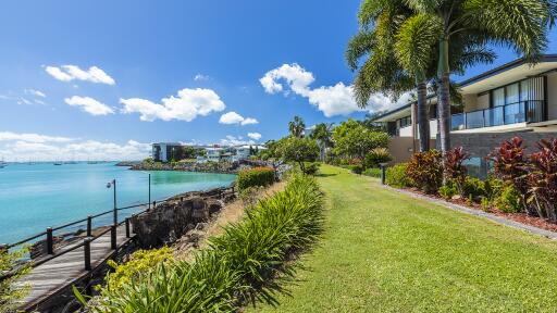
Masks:
[[[126,237],[125,225],[120,225],[116,228],[117,247],[125,245],[128,240],[131,240],[131,238]],[[82,241],[65,246],[54,252],[60,253],[79,245]],[[95,270],[113,253],[114,250],[111,249],[111,231],[108,231],[90,242],[91,268]],[[23,310],[33,310],[54,293],[72,286],[90,273],[85,270],[84,254],[84,247],[79,247],[34,267],[28,275],[24,276],[22,280],[18,281],[18,284],[25,284],[30,288],[21,308]]]

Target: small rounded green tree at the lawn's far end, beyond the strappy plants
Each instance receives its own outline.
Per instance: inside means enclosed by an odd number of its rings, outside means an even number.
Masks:
[[[310,138],[286,137],[280,140],[280,153],[285,162],[296,162],[302,173],[306,172],[305,162],[314,162],[319,156],[319,147]]]

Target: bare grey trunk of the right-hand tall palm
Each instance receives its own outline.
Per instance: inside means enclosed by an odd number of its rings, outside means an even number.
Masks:
[[[437,112],[440,118],[440,140],[443,155],[450,149],[450,95],[449,95],[448,38],[440,40],[440,63],[437,76],[441,83]]]

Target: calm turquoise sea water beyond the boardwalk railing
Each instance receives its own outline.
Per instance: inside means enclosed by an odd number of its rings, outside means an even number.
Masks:
[[[10,164],[0,168],[0,243],[12,243],[34,234],[112,209],[113,190],[107,183],[116,179],[120,208],[181,192],[228,186],[235,175],[188,172],[141,172],[114,163],[99,164]],[[120,212],[121,217],[134,213]],[[94,227],[110,224],[112,215],[94,220]],[[60,230],[67,233],[84,225]],[[58,235],[54,233],[54,235]]]

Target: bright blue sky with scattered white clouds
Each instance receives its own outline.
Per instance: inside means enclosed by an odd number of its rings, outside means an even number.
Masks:
[[[3,3],[0,155],[135,159],[153,141],[264,142],[294,115],[308,125],[362,117],[344,61],[359,3]],[[497,50],[495,64],[467,76],[516,58]]]

